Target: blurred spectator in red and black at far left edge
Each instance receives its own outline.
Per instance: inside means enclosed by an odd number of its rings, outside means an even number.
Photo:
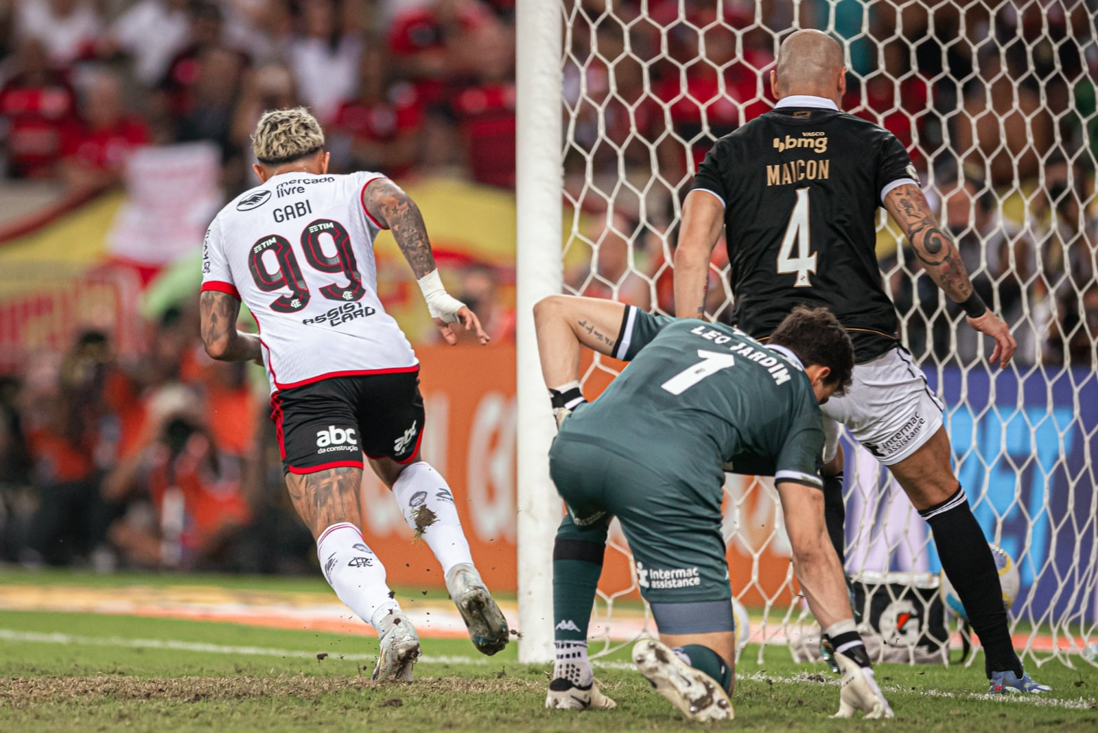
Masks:
[[[49,68],[42,42],[23,37],[15,52],[14,72],[0,87],[9,176],[54,176],[65,136],[71,135],[77,124],[76,105],[76,91],[67,75]]]

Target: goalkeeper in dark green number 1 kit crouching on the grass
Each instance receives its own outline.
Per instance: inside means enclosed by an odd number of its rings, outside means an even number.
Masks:
[[[841,394],[854,362],[834,316],[797,308],[766,346],[612,301],[554,295],[534,316],[560,428],[550,472],[568,506],[553,548],[557,658],[546,706],[615,707],[598,691],[586,646],[616,516],[660,633],[637,642],[634,662],[687,718],[732,717],[736,634],[720,532],[729,469],[775,478],[794,571],[843,670],[838,714],[892,717],[824,521],[819,404]],[[591,404],[578,381],[582,347],[630,362]]]

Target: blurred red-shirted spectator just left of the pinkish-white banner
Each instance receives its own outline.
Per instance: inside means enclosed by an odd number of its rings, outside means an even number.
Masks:
[[[88,79],[81,101],[82,124],[65,140],[61,178],[82,190],[121,183],[126,157],[148,144],[148,128],[126,113],[122,80],[113,72],[97,71]]]

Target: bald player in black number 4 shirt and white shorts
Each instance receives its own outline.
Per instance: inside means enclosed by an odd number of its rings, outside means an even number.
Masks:
[[[839,110],[845,67],[819,31],[789,35],[771,72],[776,109],[720,138],[683,206],[674,260],[675,313],[703,315],[709,256],[726,228],[735,323],[765,339],[795,305],[826,305],[855,348],[848,395],[824,406],[829,530],[842,556],[842,456],[838,426],[887,465],[934,535],[986,653],[991,691],[1040,692],[1015,654],[995,561],[950,466],[942,407],[896,335],[874,252],[877,206],[910,240],[923,269],[968,325],[995,339],[1006,366],[1017,347],[1007,325],[973,291],[956,247],[939,226],[903,145]]]

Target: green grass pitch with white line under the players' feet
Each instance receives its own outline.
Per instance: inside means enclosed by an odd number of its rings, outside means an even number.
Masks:
[[[27,580],[0,576],[0,582]],[[43,582],[51,582],[49,576]],[[293,582],[274,584],[295,587]],[[315,586],[300,584],[310,590]],[[625,651],[596,668],[618,708],[582,713],[545,710],[550,667],[519,665],[514,645],[481,657],[467,641],[425,639],[426,657],[416,665],[416,681],[399,685],[370,681],[376,651],[371,636],[0,611],[0,731],[549,733],[688,728],[624,664]],[[768,649],[762,665],[755,655],[749,647],[737,669],[736,720],[705,728],[1098,731],[1098,670],[1082,662],[1076,669],[1058,663],[1032,669],[1054,691],[1027,699],[982,696],[986,683],[978,659],[971,668],[877,665],[896,719],[836,721],[829,718],[838,708],[836,677],[819,665],[792,663],[784,649]]]

